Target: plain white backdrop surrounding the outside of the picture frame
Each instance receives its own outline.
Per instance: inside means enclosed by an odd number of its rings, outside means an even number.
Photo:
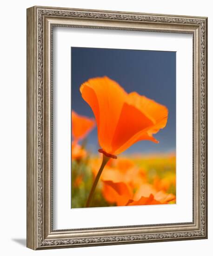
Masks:
[[[209,186],[209,239],[169,243],[32,251],[26,243],[26,8],[34,5],[208,16],[209,174],[213,180],[213,14],[209,0],[35,0],[4,1],[0,40],[0,251],[2,255],[210,255],[213,243],[213,186]],[[210,183],[211,185],[211,183]]]

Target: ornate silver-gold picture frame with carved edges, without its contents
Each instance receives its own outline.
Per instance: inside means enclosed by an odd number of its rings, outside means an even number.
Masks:
[[[193,221],[53,229],[53,27],[193,35]],[[207,238],[207,18],[58,7],[27,9],[27,247]]]

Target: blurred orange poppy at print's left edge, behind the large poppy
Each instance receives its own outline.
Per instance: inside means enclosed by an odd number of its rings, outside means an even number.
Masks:
[[[74,141],[83,139],[95,126],[93,118],[72,111],[72,135]]]

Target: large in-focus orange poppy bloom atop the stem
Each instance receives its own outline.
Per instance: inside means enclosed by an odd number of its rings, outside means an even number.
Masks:
[[[137,141],[158,143],[153,134],[166,126],[165,106],[136,92],[127,94],[107,76],[89,79],[80,92],[93,110],[101,153],[117,158]]]

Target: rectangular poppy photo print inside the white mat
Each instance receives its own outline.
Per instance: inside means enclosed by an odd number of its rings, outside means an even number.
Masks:
[[[176,203],[176,53],[71,47],[71,208]]]

